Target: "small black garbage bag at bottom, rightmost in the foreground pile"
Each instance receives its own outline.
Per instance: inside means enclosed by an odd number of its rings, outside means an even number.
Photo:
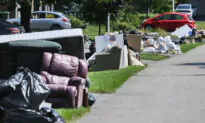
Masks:
[[[52,108],[43,107],[43,108],[40,109],[40,113],[50,123],[65,123],[64,119]]]

